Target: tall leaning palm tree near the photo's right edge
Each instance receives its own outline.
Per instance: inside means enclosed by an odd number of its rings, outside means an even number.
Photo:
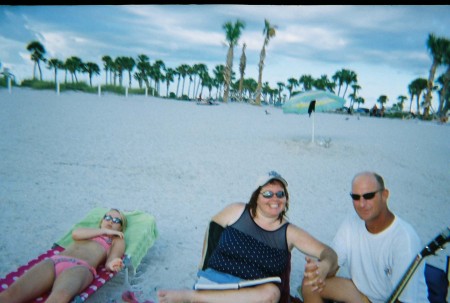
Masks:
[[[431,106],[431,92],[433,90],[434,75],[436,69],[444,61],[445,53],[450,51],[450,40],[446,38],[436,37],[434,34],[429,34],[427,39],[427,48],[433,57],[433,62],[430,68],[430,74],[427,81],[427,92],[425,95],[424,118],[428,117]]]

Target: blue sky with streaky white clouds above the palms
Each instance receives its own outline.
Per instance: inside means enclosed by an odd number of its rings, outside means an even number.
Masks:
[[[245,77],[257,80],[267,19],[276,35],[266,49],[263,82],[277,88],[277,82],[302,75],[331,79],[345,68],[357,74],[365,107],[380,95],[388,97],[390,107],[400,95],[409,100],[413,80],[428,79],[432,58],[426,41],[430,33],[450,38],[449,16],[449,5],[0,5],[0,62],[18,81],[32,78],[26,47],[39,41],[46,58],[77,56],[97,63],[102,72],[94,85],[105,82],[105,55],[145,54],[150,63],[162,60],[171,68],[204,63],[212,75],[226,62],[223,24],[241,20],[245,28],[234,49],[233,70],[238,75],[245,43]],[[42,69],[44,80],[54,79],[53,71]],[[440,67],[435,78],[443,72]],[[64,73],[59,74],[62,81]],[[85,78],[80,77],[88,82]],[[132,86],[138,87],[136,81]]]

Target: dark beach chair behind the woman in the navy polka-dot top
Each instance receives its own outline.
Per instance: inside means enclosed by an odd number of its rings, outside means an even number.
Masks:
[[[211,257],[213,251],[216,249],[219,243],[220,236],[224,228],[214,221],[209,223],[209,227],[206,234],[206,241],[203,247],[202,260],[200,262],[200,269],[205,270],[208,264],[208,260]],[[291,254],[289,253],[288,266],[281,278],[281,298],[279,303],[302,303],[302,301],[290,294],[290,276],[291,276]]]

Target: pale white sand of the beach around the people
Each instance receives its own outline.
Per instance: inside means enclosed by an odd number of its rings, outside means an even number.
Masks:
[[[268,170],[289,182],[291,222],[325,243],[353,211],[353,175],[375,170],[425,245],[449,225],[449,126],[317,113],[325,148],[310,143],[311,118],[279,108],[0,89],[0,276],[93,207],[112,206],[153,214],[160,231],[128,289],[143,301],[191,288],[210,217],[246,202]],[[448,247],[426,260],[444,268],[446,255]],[[293,293],[303,260],[293,254]],[[122,283],[119,275],[88,302],[119,300]]]

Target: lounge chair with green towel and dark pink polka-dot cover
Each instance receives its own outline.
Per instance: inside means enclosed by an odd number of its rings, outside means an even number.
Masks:
[[[101,218],[109,209],[108,208],[94,208],[92,209],[80,222],[76,223],[60,240],[53,244],[53,247],[42,253],[37,258],[31,260],[25,265],[17,268],[6,275],[5,278],[0,279],[0,292],[5,290],[11,285],[17,278],[25,273],[36,263],[45,260],[55,254],[59,254],[65,247],[72,243],[72,231],[79,227],[97,227]],[[158,230],[156,227],[156,221],[154,217],[142,211],[125,211],[127,217],[127,229],[125,231],[125,255],[123,261],[125,269],[125,280],[128,279],[128,273],[133,275],[136,273],[137,267],[142,261],[142,258],[147,254],[147,251],[153,246],[155,240],[158,237]],[[120,274],[110,272],[105,269],[103,265],[97,267],[97,275],[94,277],[92,283],[78,296],[76,296],[72,302],[80,303],[86,301],[86,299],[95,293],[100,287],[111,280],[115,275]],[[36,298],[32,302],[45,302],[48,294]]]

